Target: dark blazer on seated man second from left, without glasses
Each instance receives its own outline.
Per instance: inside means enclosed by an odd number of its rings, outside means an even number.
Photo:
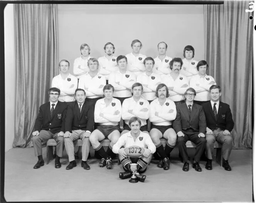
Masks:
[[[65,130],[89,130],[93,132],[94,126],[94,106],[88,102],[84,102],[81,114],[77,101],[73,101],[67,108],[67,116],[65,121]]]

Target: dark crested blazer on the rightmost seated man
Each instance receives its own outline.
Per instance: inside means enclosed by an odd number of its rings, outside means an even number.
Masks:
[[[228,104],[221,101],[219,102],[217,120],[215,119],[212,110],[211,101],[204,103],[202,107],[204,108],[206,124],[209,129],[214,130],[216,127],[219,127],[221,130],[228,130],[231,132],[234,128],[234,121]]]

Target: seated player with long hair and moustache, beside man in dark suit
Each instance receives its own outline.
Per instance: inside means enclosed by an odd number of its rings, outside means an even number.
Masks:
[[[150,117],[152,122],[150,137],[157,148],[161,157],[157,167],[168,170],[170,168],[169,156],[176,145],[177,135],[172,128],[172,121],[176,118],[176,106],[173,101],[168,99],[168,87],[165,84],[157,86],[157,99],[150,103]],[[165,150],[160,139],[167,139]]]

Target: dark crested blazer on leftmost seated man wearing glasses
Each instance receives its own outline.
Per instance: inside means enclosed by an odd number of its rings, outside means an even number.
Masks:
[[[42,104],[39,107],[39,114],[35,119],[35,131],[50,130],[52,133],[60,131],[65,132],[65,118],[67,112],[67,103],[58,101],[51,119],[50,102]]]

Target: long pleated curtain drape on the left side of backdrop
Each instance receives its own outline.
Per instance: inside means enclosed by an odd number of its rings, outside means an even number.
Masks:
[[[15,4],[16,109],[13,147],[31,147],[39,106],[57,74],[56,5]]]

